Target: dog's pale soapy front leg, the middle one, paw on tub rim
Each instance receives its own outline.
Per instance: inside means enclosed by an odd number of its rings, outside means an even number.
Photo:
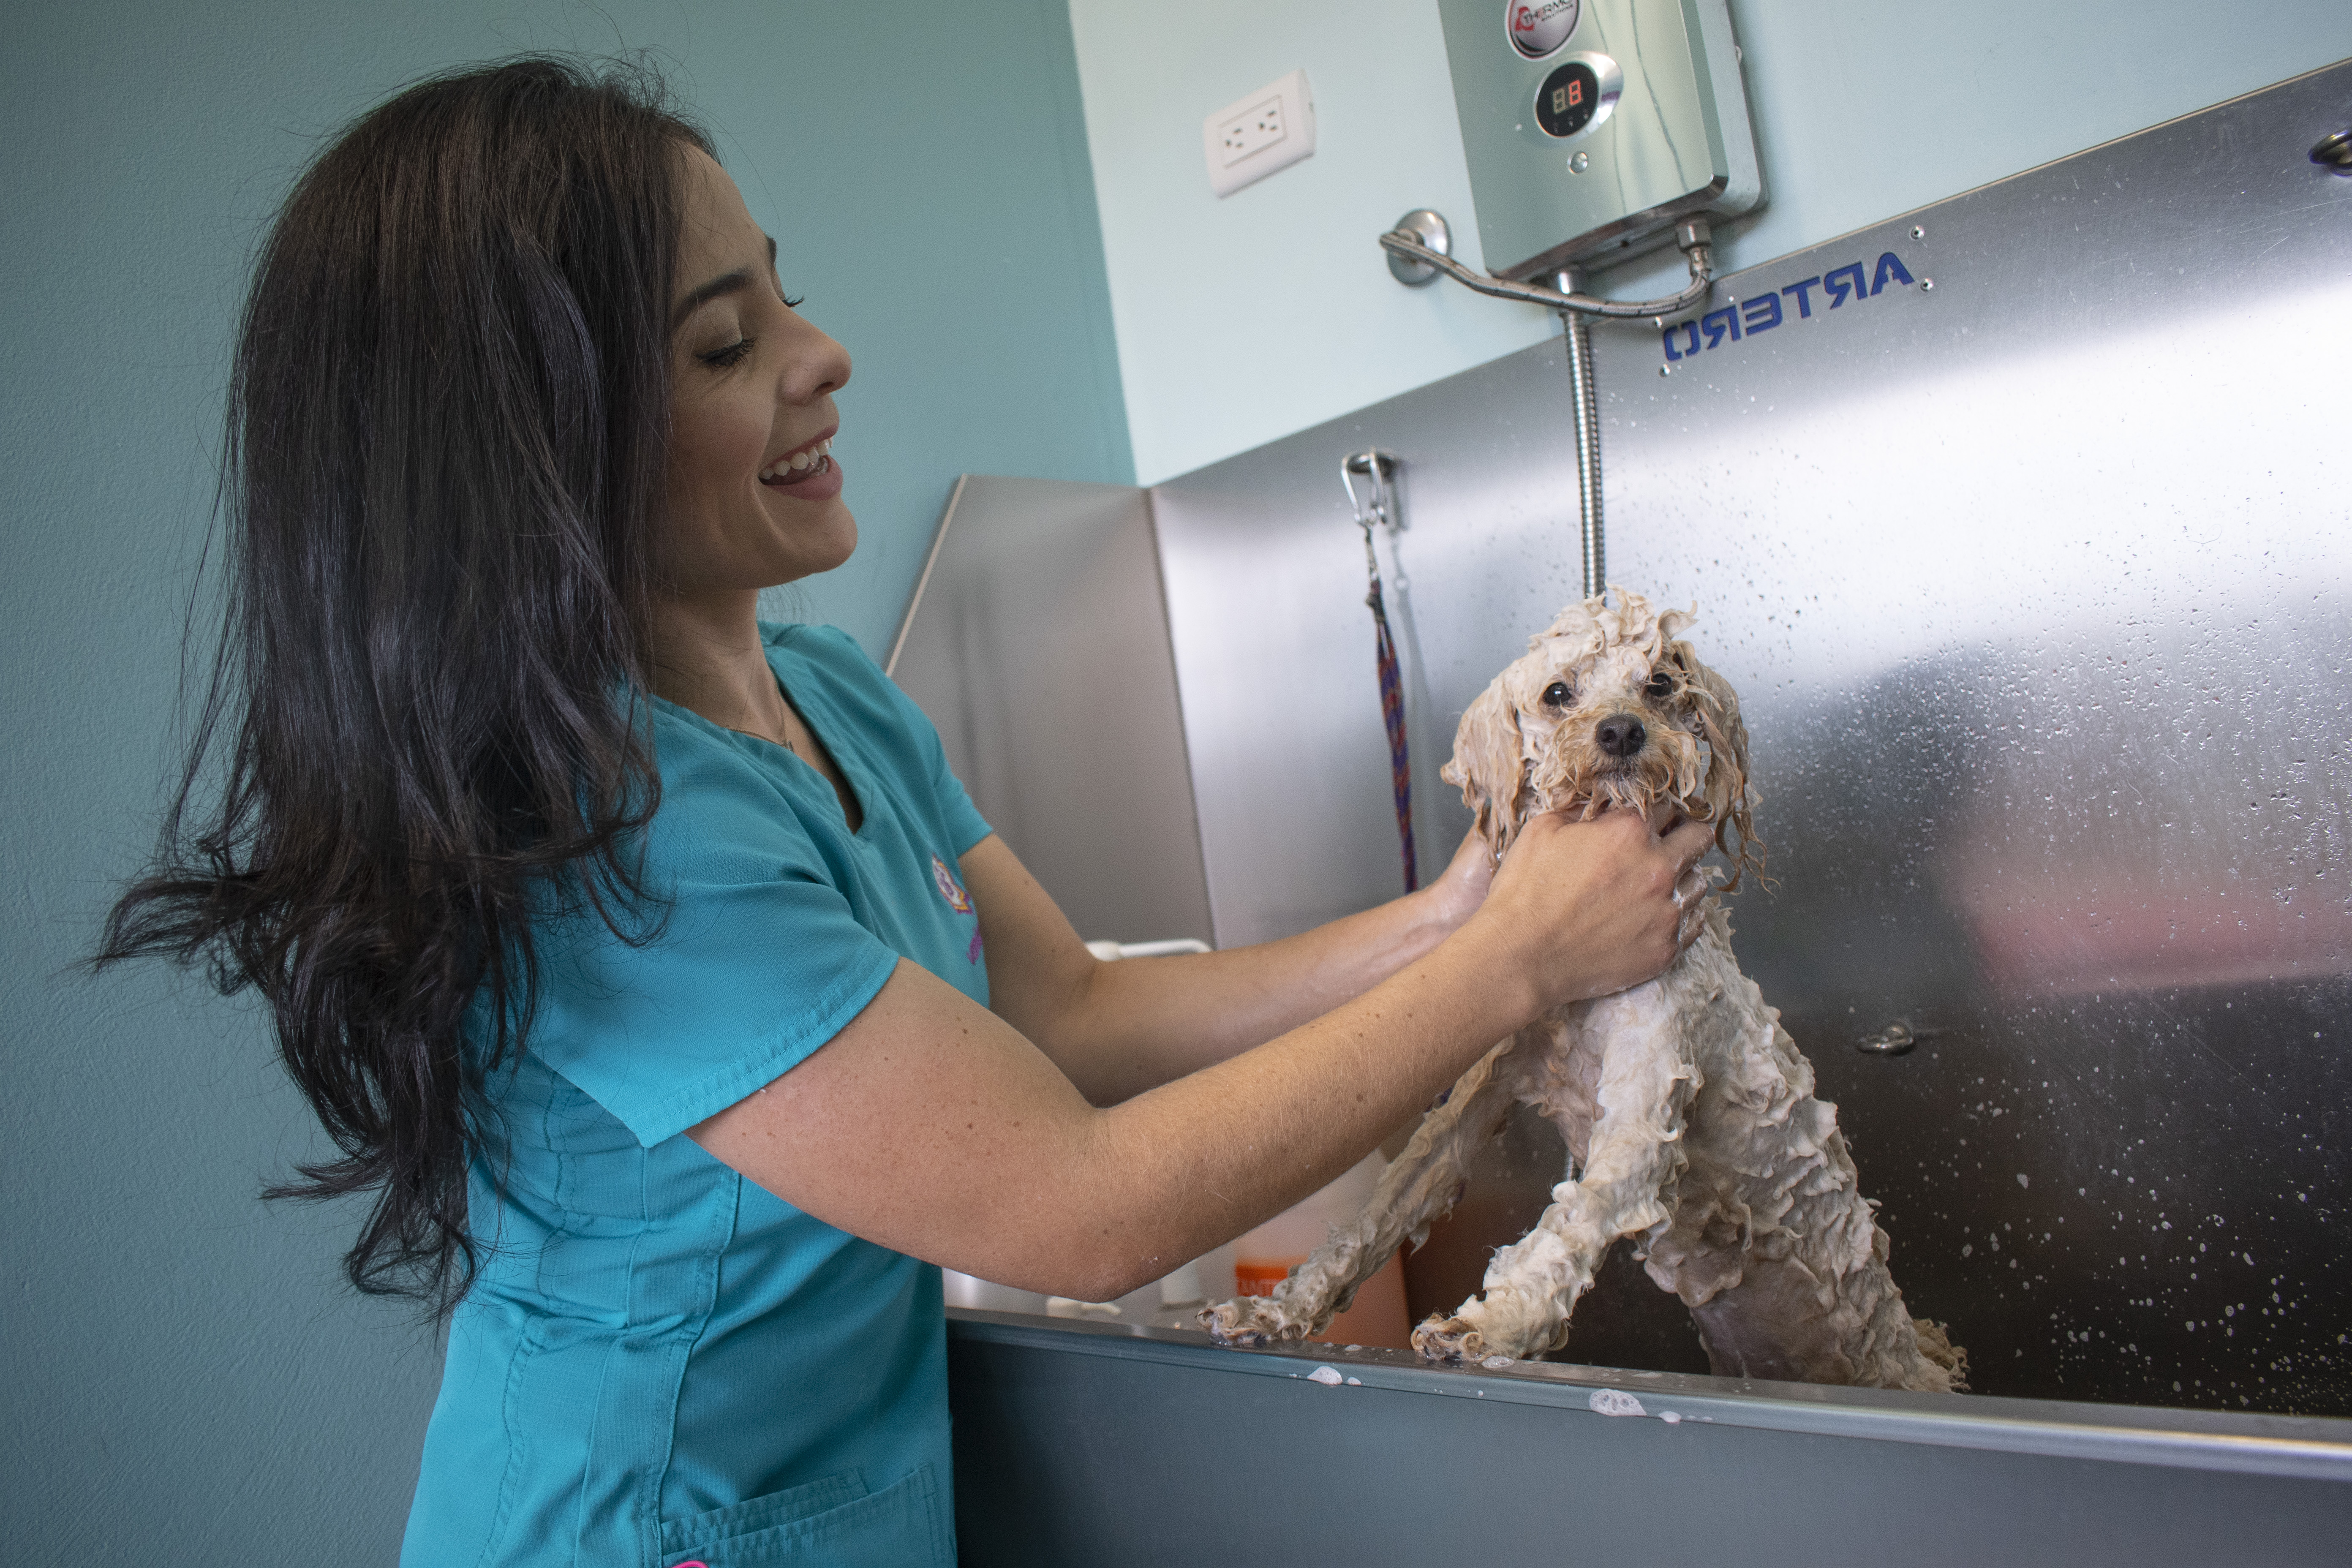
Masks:
[[[1665,983],[1578,1011],[1578,1027],[1606,1041],[1583,1175],[1552,1187],[1552,1206],[1536,1229],[1494,1255],[1477,1298],[1414,1331],[1414,1349],[1432,1361],[1519,1359],[1562,1345],[1569,1312],[1609,1246],[1670,1213],[1682,1119],[1698,1072],[1682,1048]]]

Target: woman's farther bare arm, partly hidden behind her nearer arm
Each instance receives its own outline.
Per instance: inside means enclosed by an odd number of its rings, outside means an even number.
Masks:
[[[1362,914],[1256,947],[1105,964],[1004,839],[981,839],[960,865],[988,943],[990,1011],[1094,1105],[1117,1105],[1362,997],[1470,919],[1494,879],[1472,835],[1437,882]]]

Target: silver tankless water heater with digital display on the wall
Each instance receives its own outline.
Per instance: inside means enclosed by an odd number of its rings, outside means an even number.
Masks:
[[[1437,0],[1486,270],[1543,277],[1764,200],[1724,0]]]

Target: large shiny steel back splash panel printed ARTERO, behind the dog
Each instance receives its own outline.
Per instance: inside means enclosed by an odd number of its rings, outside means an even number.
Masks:
[[[1738,273],[1677,362],[1595,331],[1613,578],[1748,705],[1738,952],[1985,1392],[2352,1410],[2347,118],[2352,63]],[[1576,595],[1557,346],[1157,487],[1228,945],[1397,891],[1367,444],[1423,863],[1456,715]]]

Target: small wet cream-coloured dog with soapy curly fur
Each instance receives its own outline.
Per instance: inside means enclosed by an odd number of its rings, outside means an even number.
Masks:
[[[1625,590],[1571,604],[1470,703],[1444,778],[1496,856],[1538,811],[1672,802],[1717,825],[1729,886],[1762,870],[1740,703],[1679,642],[1689,623]],[[1966,1352],[1903,1307],[1837,1107],[1813,1098],[1813,1067],[1740,973],[1710,889],[1700,877],[1679,889],[1703,929],[1663,976],[1555,1009],[1489,1051],[1355,1222],[1272,1295],[1209,1307],[1202,1326],[1228,1345],[1319,1333],[1390,1253],[1428,1237],[1470,1154],[1526,1100],[1566,1138],[1569,1180],[1496,1253],[1479,1295],[1414,1331],[1423,1356],[1557,1349],[1606,1251],[1639,1237],[1649,1276],[1691,1309],[1717,1375],[1964,1389]]]

